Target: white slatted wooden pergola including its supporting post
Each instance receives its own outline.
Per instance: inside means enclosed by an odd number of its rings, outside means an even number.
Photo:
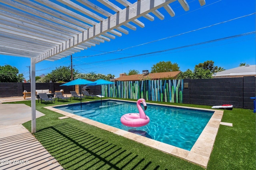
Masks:
[[[130,0],[132,1],[132,0]],[[55,61],[144,27],[139,18],[153,21],[177,0],[2,0],[0,54],[29,57],[31,61],[31,119],[36,132],[35,64]],[[198,0],[200,5],[205,0]],[[178,0],[185,11],[186,0]]]

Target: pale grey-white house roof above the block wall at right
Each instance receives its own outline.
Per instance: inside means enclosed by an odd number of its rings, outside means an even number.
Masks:
[[[213,77],[219,76],[246,76],[246,75],[256,75],[256,65],[246,65],[239,66],[236,68],[231,68],[228,70],[216,72]]]

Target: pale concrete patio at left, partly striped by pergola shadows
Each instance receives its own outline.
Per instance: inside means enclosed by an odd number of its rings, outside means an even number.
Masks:
[[[0,98],[0,103],[22,101],[23,97]],[[22,123],[31,120],[31,107],[25,104],[0,104],[0,169],[52,169],[62,166]],[[36,118],[44,116],[36,111]]]

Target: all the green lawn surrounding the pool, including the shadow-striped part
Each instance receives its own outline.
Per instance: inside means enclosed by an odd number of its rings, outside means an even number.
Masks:
[[[30,101],[12,103],[30,106]],[[56,102],[56,105],[63,103]],[[36,103],[36,109],[45,116],[36,119],[37,132],[34,135],[67,170],[204,169],[92,125],[71,118],[59,120],[58,117],[63,115],[43,108],[50,105],[54,104]],[[192,104],[172,105],[211,108]],[[233,123],[233,127],[220,125],[207,170],[256,169],[255,113],[246,109],[225,110],[222,121]],[[31,131],[30,121],[23,125]]]

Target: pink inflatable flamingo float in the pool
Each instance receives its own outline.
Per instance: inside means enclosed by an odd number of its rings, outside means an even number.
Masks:
[[[123,125],[129,126],[129,127],[141,127],[148,124],[150,119],[146,115],[142,107],[140,106],[140,103],[143,104],[144,110],[147,109],[145,99],[139,99],[137,101],[137,107],[138,107],[139,113],[127,113],[125,115],[122,115],[120,121]]]

